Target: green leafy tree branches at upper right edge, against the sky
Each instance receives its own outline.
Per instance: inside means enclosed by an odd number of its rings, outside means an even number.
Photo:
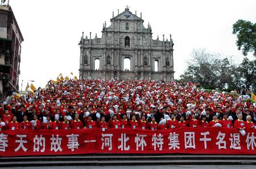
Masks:
[[[248,52],[253,52],[256,57],[256,23],[251,23],[246,20],[238,20],[233,24],[233,34],[237,35],[237,47],[241,50],[244,56]]]

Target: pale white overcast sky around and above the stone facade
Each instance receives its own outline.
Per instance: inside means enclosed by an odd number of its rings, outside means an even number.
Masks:
[[[150,22],[153,39],[174,41],[174,71],[179,78],[187,67],[192,49],[232,56],[240,63],[232,25],[238,19],[256,22],[256,1],[82,1],[82,0],[10,0],[24,41],[22,43],[20,78],[23,90],[27,81],[44,87],[62,73],[79,77],[79,41],[84,36],[101,37],[102,24],[110,25],[114,16],[125,10],[142,12],[144,27]],[[250,53],[249,58],[253,58]],[[30,83],[30,82],[29,82]]]

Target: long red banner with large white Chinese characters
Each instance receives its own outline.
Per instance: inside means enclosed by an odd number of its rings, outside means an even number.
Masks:
[[[256,154],[254,130],[230,128],[2,130],[0,156],[88,153]],[[255,149],[255,150],[254,150]]]

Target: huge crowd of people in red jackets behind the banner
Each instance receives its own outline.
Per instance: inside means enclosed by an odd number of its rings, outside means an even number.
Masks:
[[[0,102],[0,130],[225,127],[255,130],[248,95],[205,91],[197,84],[84,79],[49,81]]]

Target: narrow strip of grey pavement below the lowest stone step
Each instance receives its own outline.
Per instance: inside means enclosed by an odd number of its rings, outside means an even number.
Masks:
[[[226,168],[226,169],[238,169],[238,168],[242,168],[242,169],[255,169],[255,166],[251,165],[241,165],[241,166],[199,166],[199,165],[173,165],[173,166],[71,166],[71,167],[64,167],[64,166],[60,166],[60,167],[56,167],[56,166],[52,166],[52,167],[6,167],[6,168],[20,168],[20,169],[133,169],[133,168],[138,168],[138,169],[169,169],[169,168],[178,168],[178,169],[199,169],[199,168],[207,168],[207,169],[221,169],[221,168]]]

